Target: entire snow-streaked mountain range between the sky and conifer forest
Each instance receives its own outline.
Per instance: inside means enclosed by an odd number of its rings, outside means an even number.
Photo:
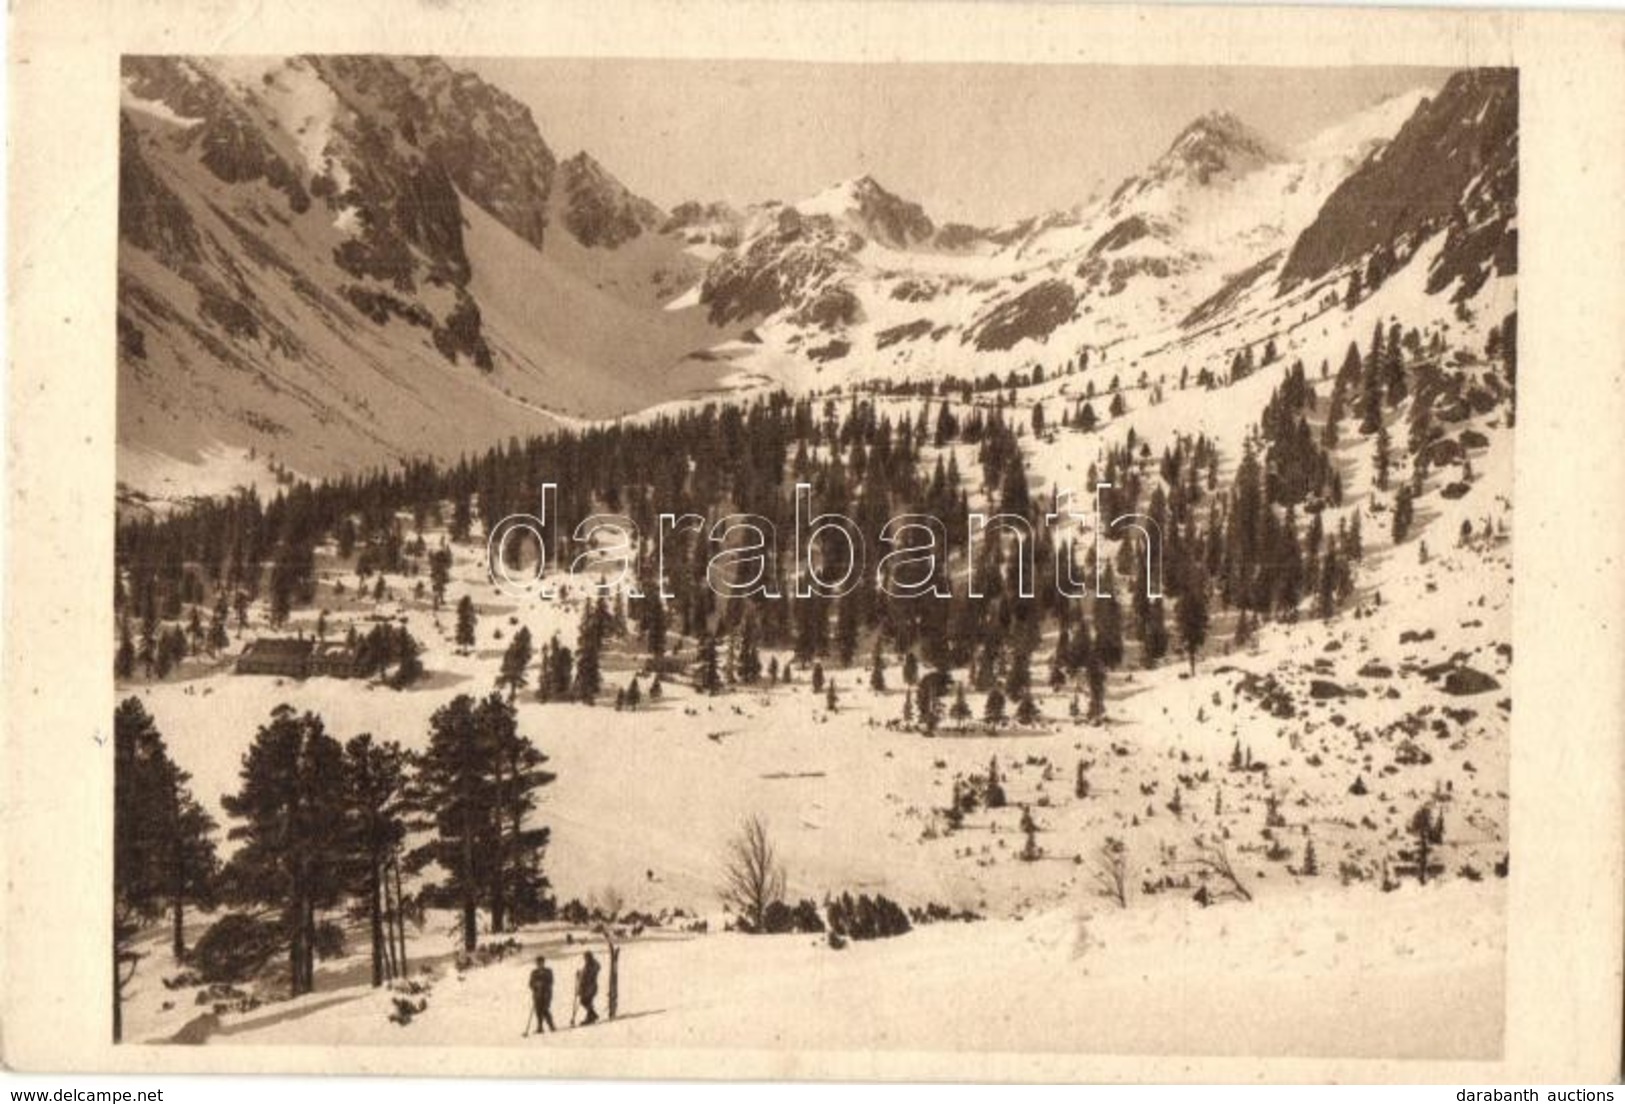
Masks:
[[[668,216],[588,153],[557,161],[523,106],[432,59],[130,59],[122,455],[195,470],[254,449],[323,475],[718,389],[1055,374],[1120,346],[1222,366],[1242,319],[1315,314],[1372,252],[1386,275],[1450,233],[1436,289],[1506,249],[1516,180],[1472,169],[1506,145],[1505,109],[1474,111],[1485,98],[1505,104],[1503,85],[1467,75],[1297,148],[1209,112],[1110,197],[972,228],[868,176]],[[1389,228],[1386,252],[1381,233],[1328,229],[1428,150],[1454,167],[1407,187],[1459,208],[1450,228]],[[150,470],[127,460],[120,478]]]

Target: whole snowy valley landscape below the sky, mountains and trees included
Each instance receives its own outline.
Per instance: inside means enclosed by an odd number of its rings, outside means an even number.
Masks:
[[[668,213],[436,60],[132,60],[122,1039],[1498,1055],[1516,124],[1212,112],[973,228]],[[947,597],[492,577],[544,483],[785,535],[803,481],[942,519]]]

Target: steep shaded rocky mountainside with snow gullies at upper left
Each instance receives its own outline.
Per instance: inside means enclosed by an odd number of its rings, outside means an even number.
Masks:
[[[702,262],[656,206],[440,62],[135,57],[124,89],[127,483],[455,455],[704,385],[668,369],[730,337],[658,309]]]

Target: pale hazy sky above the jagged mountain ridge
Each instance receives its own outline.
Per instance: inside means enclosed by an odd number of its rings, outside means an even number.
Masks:
[[[588,150],[632,190],[796,200],[871,174],[938,221],[998,224],[1108,190],[1196,115],[1290,145],[1448,70],[855,65],[452,59],[528,104],[559,158]]]

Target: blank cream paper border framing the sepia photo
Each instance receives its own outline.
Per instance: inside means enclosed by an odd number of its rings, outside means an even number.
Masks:
[[[973,1081],[1618,1076],[1625,20],[934,0],[16,0],[0,1055],[28,1070]],[[1516,595],[1500,1062],[517,1047],[114,1047],[114,288],[122,54],[379,52],[1521,72]],[[1064,120],[1058,120],[1064,125]],[[1427,1016],[1427,1008],[1417,1008]]]

